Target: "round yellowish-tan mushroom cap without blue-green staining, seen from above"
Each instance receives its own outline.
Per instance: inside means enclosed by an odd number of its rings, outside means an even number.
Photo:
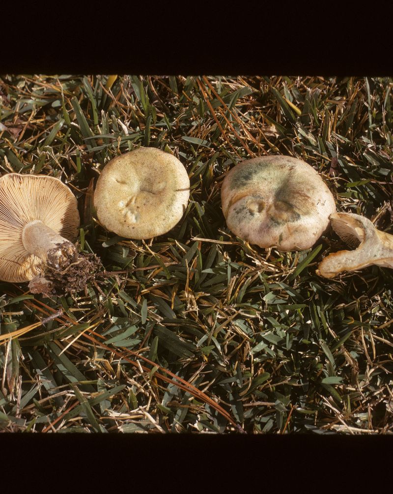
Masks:
[[[94,206],[107,230],[125,238],[150,239],[180,221],[189,196],[190,180],[181,162],[159,149],[140,147],[105,166]]]

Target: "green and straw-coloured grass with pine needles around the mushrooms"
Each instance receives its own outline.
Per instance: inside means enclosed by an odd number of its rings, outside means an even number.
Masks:
[[[102,285],[43,298],[0,282],[0,429],[392,434],[393,273],[315,275],[313,249],[228,230],[225,173],[266,154],[321,174],[338,210],[393,234],[393,80],[1,76],[1,173],[61,177]],[[100,170],[136,146],[186,166],[190,202],[151,241],[94,216]]]

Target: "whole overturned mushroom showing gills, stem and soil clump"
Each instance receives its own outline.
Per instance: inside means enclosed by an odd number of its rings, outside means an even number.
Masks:
[[[71,242],[78,228],[77,200],[58,178],[20,173],[0,177],[1,280],[32,280],[30,290],[45,295],[83,288],[92,254],[79,254]],[[78,266],[72,269],[71,264]],[[72,280],[64,277],[64,270]]]

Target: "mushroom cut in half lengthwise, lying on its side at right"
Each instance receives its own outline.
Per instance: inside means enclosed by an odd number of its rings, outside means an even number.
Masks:
[[[324,278],[334,278],[342,271],[355,271],[375,264],[393,269],[393,235],[377,230],[359,214],[334,213],[333,230],[355,250],[339,250],[326,256],[315,271]]]

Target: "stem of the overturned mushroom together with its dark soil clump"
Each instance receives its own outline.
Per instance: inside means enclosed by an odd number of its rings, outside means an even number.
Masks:
[[[94,254],[78,252],[72,242],[39,220],[24,227],[22,242],[44,262],[42,272],[29,283],[32,293],[51,296],[83,289],[101,265]]]

